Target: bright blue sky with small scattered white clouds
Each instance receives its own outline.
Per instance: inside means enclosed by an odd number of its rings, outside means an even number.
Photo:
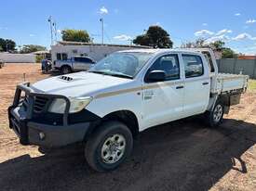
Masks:
[[[174,46],[205,37],[255,55],[255,7],[255,0],[8,0],[1,2],[0,37],[14,39],[18,45],[49,47],[51,15],[59,31],[87,30],[100,43],[103,17],[105,43],[129,44],[130,38],[157,24],[169,32]]]

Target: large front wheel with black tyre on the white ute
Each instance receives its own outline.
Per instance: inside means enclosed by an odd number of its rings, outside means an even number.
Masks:
[[[119,121],[107,121],[88,138],[85,156],[92,169],[108,172],[128,158],[132,147],[133,138],[128,127]]]

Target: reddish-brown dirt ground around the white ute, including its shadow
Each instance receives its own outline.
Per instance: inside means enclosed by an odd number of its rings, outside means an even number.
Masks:
[[[83,146],[50,150],[20,146],[7,127],[15,85],[47,78],[37,64],[0,70],[0,190],[256,190],[256,92],[242,97],[216,129],[201,119],[161,125],[140,134],[116,171],[89,169]]]

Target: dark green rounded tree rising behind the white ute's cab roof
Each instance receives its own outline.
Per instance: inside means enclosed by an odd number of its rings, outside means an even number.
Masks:
[[[155,48],[171,48],[173,45],[168,32],[159,26],[150,26],[147,32],[137,36],[133,43],[135,45],[149,45]]]

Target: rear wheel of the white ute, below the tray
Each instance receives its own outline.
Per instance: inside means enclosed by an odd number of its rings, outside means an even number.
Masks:
[[[222,123],[223,115],[224,105],[222,104],[222,101],[217,100],[214,108],[211,111],[208,111],[205,117],[210,127],[218,127]]]

